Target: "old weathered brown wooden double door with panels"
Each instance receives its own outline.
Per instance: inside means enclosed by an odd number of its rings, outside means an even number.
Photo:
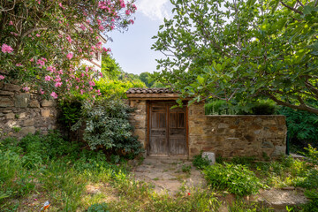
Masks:
[[[186,155],[186,107],[170,109],[173,102],[149,107],[149,155]]]

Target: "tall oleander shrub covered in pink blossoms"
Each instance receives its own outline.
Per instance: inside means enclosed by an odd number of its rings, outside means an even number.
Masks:
[[[61,97],[95,93],[100,73],[81,66],[102,48],[101,33],[133,24],[134,0],[4,0],[0,3],[0,80]]]

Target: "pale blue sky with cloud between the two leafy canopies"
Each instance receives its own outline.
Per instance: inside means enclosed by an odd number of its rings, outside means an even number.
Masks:
[[[171,16],[172,4],[169,0],[137,0],[137,11],[134,24],[124,34],[117,31],[109,35],[113,42],[106,43],[112,56],[122,67],[124,72],[140,74],[141,72],[155,72],[155,59],[163,54],[150,49],[163,19]]]

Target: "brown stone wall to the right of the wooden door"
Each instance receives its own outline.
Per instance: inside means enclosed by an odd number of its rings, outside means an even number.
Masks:
[[[285,153],[284,116],[206,116],[204,104],[189,107],[189,155],[271,157]]]

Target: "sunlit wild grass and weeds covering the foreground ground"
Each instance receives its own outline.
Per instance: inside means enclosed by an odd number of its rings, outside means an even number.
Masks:
[[[62,140],[56,133],[20,141],[0,140],[0,211],[38,211],[45,201],[51,202],[49,211],[217,211],[222,207],[229,211],[271,211],[239,197],[224,205],[219,193],[227,186],[218,186],[218,190],[212,185],[182,186],[175,195],[158,194],[153,186],[134,180],[127,163],[113,164],[102,152],[79,149],[79,144]],[[233,158],[227,163],[231,163],[227,173],[234,171],[239,176],[239,169],[244,169],[247,178],[247,170],[253,171],[264,186],[306,189],[312,201],[293,211],[311,211],[317,205],[318,170],[314,163],[291,157],[272,162]],[[196,164],[203,170],[208,167],[204,160],[197,159]],[[190,168],[183,165],[181,170],[185,175]],[[218,171],[223,171],[221,164]]]

